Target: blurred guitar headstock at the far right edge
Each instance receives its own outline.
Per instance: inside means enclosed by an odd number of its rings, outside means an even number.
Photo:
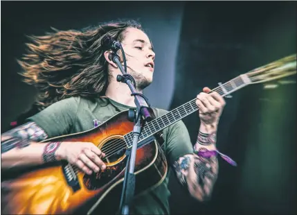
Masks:
[[[289,55],[268,65],[246,73],[249,84],[264,83],[296,74],[296,54]]]

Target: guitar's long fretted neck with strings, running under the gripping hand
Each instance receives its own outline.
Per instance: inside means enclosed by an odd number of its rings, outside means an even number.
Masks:
[[[233,78],[232,80],[229,80],[224,84],[219,84],[219,87],[216,87],[211,92],[217,92],[221,96],[227,97],[231,93],[235,92],[236,90],[241,89],[246,85],[249,85],[249,83],[251,83],[249,78],[246,75],[241,75],[241,76],[237,76],[236,78]],[[167,114],[164,114],[161,117],[158,117],[156,119],[153,119],[150,122],[147,122],[143,127],[143,130],[139,137],[139,141],[143,141],[151,137],[157,132],[160,132],[161,130],[163,130],[164,128],[167,128],[173,123],[176,123],[177,121],[183,119],[184,117],[187,117],[193,112],[196,112],[198,109],[199,108],[196,105],[196,98],[195,98],[177,108],[174,108]],[[127,133],[127,135],[124,135],[124,138],[128,148],[131,148],[133,144],[133,132]]]

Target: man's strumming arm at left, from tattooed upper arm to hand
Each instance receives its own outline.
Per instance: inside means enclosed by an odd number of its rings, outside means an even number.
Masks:
[[[39,143],[48,135],[34,122],[25,123],[1,135],[1,168],[44,164],[56,160],[67,160],[85,173],[105,169],[100,160],[104,157],[92,143],[47,142]],[[71,144],[71,146],[69,145]],[[53,148],[53,151],[46,150]]]

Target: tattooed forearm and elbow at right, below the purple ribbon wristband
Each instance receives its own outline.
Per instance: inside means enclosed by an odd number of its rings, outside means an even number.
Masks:
[[[201,201],[210,197],[217,180],[217,157],[206,159],[195,154],[185,155],[174,162],[174,169],[177,179],[191,196]]]

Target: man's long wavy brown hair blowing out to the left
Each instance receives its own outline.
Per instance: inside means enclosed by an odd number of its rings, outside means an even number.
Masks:
[[[71,96],[94,97],[105,94],[109,72],[101,40],[111,35],[119,42],[125,29],[143,31],[135,21],[102,24],[82,31],[57,31],[44,36],[29,36],[27,53],[18,60],[24,82],[34,85],[39,110]]]

